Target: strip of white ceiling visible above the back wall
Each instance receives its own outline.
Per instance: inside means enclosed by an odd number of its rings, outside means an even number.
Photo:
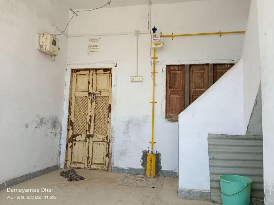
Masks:
[[[59,0],[72,9],[96,8],[107,3],[108,0]],[[201,0],[150,0],[151,4],[170,4],[181,2],[194,2]],[[111,0],[110,7],[136,6],[147,4],[148,0]]]

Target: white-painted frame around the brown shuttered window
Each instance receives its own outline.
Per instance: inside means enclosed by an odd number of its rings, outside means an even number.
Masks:
[[[217,59],[217,60],[189,60],[189,61],[162,61],[162,102],[161,102],[161,119],[157,122],[178,123],[170,119],[166,119],[166,84],[167,84],[167,65],[199,65],[199,64],[230,64],[237,63],[240,59]]]

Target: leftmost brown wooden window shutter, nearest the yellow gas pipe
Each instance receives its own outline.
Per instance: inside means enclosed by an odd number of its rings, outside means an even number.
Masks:
[[[167,66],[166,118],[178,119],[185,109],[185,65]]]

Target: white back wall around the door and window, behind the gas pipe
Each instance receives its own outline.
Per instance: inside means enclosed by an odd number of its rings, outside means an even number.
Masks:
[[[158,35],[160,31],[167,35],[172,32],[182,34],[245,30],[248,9],[249,0],[152,5],[151,27],[158,28]],[[142,5],[81,12],[72,19],[69,34],[146,31],[147,10],[147,5]],[[243,40],[244,34],[223,35],[221,38],[218,35],[176,37],[174,40],[165,38],[164,48],[157,50],[156,56],[159,61],[237,59],[241,57]],[[87,54],[88,41],[88,36],[69,37],[67,63],[117,62],[116,108],[112,110],[115,112],[112,165],[141,168],[141,151],[150,147],[151,140],[150,34],[139,36],[138,75],[143,76],[141,83],[132,83],[129,78],[135,74],[134,35],[101,36],[99,55]],[[165,65],[156,65],[158,74],[155,101],[158,103],[155,105],[154,140],[157,143],[154,151],[162,153],[162,169],[178,170],[178,123],[162,119],[165,106],[164,103],[161,105],[161,101],[165,78],[161,71],[164,67]]]

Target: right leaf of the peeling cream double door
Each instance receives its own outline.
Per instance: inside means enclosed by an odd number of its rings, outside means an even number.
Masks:
[[[94,137],[89,142],[89,146],[92,144],[92,150],[89,149],[91,156],[89,163],[91,169],[107,169],[111,115],[111,70],[94,70],[93,79]]]

